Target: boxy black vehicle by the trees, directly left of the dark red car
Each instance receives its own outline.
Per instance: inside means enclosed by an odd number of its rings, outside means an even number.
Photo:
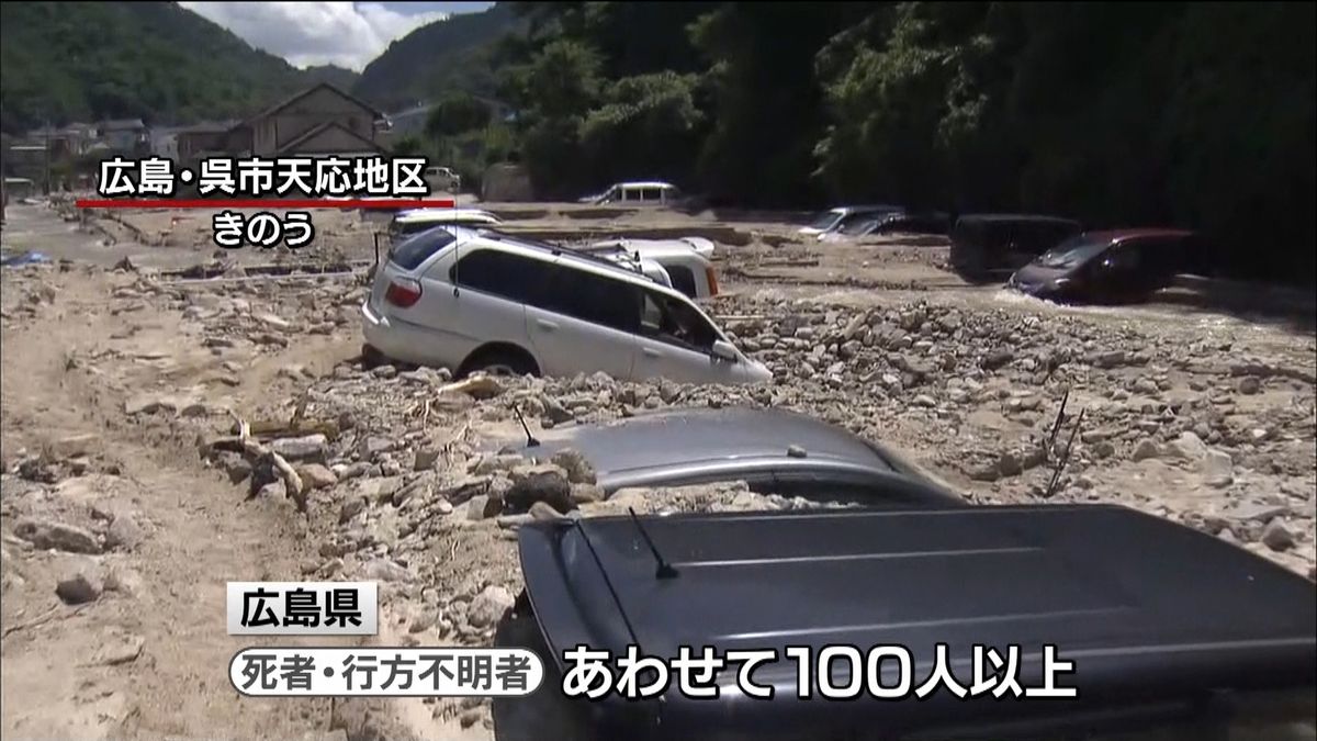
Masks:
[[[975,281],[1005,277],[1083,229],[1058,216],[965,215],[951,229],[951,266]]]

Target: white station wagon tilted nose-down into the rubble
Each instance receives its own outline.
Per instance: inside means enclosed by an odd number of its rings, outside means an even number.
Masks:
[[[361,312],[374,349],[457,376],[772,378],[680,291],[599,257],[483,229],[439,227],[400,243]]]

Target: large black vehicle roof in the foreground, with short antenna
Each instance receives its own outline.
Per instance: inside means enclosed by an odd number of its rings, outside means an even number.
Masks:
[[[1312,738],[1313,583],[1235,545],[1114,505],[723,513],[561,519],[519,534],[525,593],[497,643],[529,647],[545,682],[494,701],[495,734],[628,740]],[[564,651],[647,657],[776,650],[753,684],[718,672],[691,699],[568,697]],[[903,647],[900,662],[815,666],[798,686],[788,649]],[[979,646],[993,661],[980,675]],[[1048,651],[1051,647],[1051,651]],[[832,649],[844,651],[846,649]],[[872,657],[872,654],[868,654]],[[986,654],[984,654],[986,655]],[[940,657],[940,658],[939,658]],[[1072,662],[1056,674],[1055,661]],[[935,666],[964,687],[1014,676],[1073,697],[947,690],[909,695]],[[1014,671],[1011,671],[1011,667]],[[903,670],[903,671],[902,671]],[[614,670],[619,671],[618,668]],[[831,691],[863,692],[848,701]],[[906,692],[877,699],[880,691]],[[993,684],[989,684],[993,687]],[[801,697],[805,690],[805,697]]]

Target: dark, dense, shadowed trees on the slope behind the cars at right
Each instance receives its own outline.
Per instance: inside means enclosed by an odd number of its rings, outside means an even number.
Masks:
[[[1312,3],[512,5],[500,96],[545,195],[1183,224],[1313,280]]]

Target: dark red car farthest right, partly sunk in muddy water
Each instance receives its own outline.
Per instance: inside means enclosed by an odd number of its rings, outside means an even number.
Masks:
[[[1087,232],[1021,268],[1006,285],[1052,301],[1142,301],[1176,273],[1201,268],[1206,252],[1184,229]]]

